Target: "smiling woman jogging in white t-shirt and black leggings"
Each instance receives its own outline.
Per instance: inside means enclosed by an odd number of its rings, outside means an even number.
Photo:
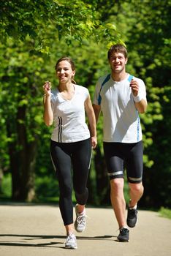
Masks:
[[[75,84],[75,64],[72,59],[63,57],[57,61],[56,76],[59,81],[58,88],[51,91],[49,82],[45,82],[43,86],[44,121],[47,126],[54,123],[50,154],[60,190],[59,208],[66,228],[65,247],[76,249],[77,241],[72,227],[72,178],[77,200],[75,230],[83,232],[86,227],[86,183],[91,147],[96,147],[96,121],[88,89]]]

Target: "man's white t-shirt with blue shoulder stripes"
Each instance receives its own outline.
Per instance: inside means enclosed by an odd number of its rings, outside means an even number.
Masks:
[[[106,75],[96,83],[94,104],[99,105],[103,114],[103,141],[119,143],[137,143],[142,140],[140,117],[134,105],[130,82],[126,79],[116,82],[113,78],[102,86]],[[134,78],[139,84],[138,95],[146,100],[145,84],[139,78]],[[102,89],[101,89],[102,86]],[[100,91],[101,90],[101,91]],[[99,95],[100,94],[100,95]]]

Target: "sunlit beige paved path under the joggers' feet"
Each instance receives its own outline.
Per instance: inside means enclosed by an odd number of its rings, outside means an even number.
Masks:
[[[116,240],[111,208],[87,208],[87,228],[77,233],[78,249],[64,249],[58,206],[0,205],[0,256],[170,256],[171,220],[139,211],[129,243]]]

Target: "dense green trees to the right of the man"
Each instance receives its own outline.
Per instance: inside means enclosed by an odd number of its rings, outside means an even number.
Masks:
[[[171,206],[170,7],[167,0],[124,1],[114,18],[129,49],[127,69],[147,87],[148,112],[141,116],[145,193],[140,202],[151,207]]]

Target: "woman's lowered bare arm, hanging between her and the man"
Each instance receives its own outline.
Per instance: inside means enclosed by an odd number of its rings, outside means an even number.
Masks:
[[[86,109],[86,114],[88,116],[88,127],[89,127],[90,133],[91,133],[91,144],[92,144],[92,147],[95,148],[96,144],[97,144],[97,140],[96,140],[96,118],[95,118],[95,115],[94,115],[94,109],[92,107],[90,95],[88,95],[88,98],[86,99],[85,109]]]

